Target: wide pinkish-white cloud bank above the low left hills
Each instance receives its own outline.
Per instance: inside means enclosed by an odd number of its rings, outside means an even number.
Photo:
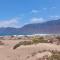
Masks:
[[[19,18],[12,18],[10,20],[0,21],[0,27],[18,27]]]

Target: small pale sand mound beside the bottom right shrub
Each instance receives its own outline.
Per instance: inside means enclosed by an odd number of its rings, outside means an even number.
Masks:
[[[30,57],[27,60],[38,60],[38,59],[42,59],[43,57],[46,57],[46,56],[50,57],[50,56],[52,56],[52,53],[50,53],[50,52],[37,53],[35,56]]]

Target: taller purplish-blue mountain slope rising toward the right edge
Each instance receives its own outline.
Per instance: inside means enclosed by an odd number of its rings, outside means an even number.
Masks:
[[[21,28],[24,32],[34,33],[60,33],[60,19],[45,23],[28,24]]]

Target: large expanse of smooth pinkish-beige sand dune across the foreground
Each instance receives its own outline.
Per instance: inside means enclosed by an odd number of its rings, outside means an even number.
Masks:
[[[48,51],[59,51],[60,45],[50,43],[39,43],[27,46],[20,46],[13,50],[13,46],[19,41],[4,41],[5,45],[0,46],[0,60],[37,60],[44,55],[51,56]],[[45,51],[45,52],[43,52]]]

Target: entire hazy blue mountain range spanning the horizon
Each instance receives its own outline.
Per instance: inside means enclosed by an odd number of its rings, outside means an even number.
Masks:
[[[32,23],[21,28],[0,28],[0,35],[60,34],[60,19],[44,23]]]

